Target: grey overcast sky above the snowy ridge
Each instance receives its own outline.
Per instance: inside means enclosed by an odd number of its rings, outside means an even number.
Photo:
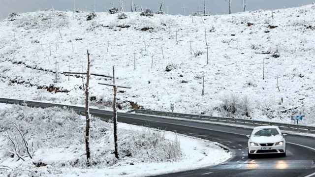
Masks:
[[[130,10],[131,0],[125,0],[126,11]],[[149,7],[153,10],[158,9],[160,0],[133,0],[135,4],[142,5],[143,8]],[[243,0],[232,0],[232,12],[242,11]],[[284,7],[297,7],[310,4],[314,0],[246,0],[247,10],[257,9],[276,9]],[[111,3],[118,6],[119,0],[75,0],[76,8],[88,9],[94,11],[105,11],[111,7]],[[201,8],[203,0],[164,0],[165,11],[170,14],[188,15]],[[211,14],[222,14],[228,12],[227,0],[206,0],[207,9]],[[30,12],[54,7],[57,10],[73,9],[74,0],[0,0],[0,18],[6,17],[10,12]],[[185,8],[183,8],[185,7]]]

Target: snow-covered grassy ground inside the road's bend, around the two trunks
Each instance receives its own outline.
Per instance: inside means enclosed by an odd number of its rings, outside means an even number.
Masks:
[[[144,177],[217,165],[231,157],[219,144],[173,132],[118,124],[120,160],[112,123],[91,119],[93,166],[85,165],[85,118],[59,108],[0,104],[0,176]],[[28,141],[28,156],[15,122]],[[15,143],[18,156],[12,157]],[[4,170],[7,169],[7,170]]]

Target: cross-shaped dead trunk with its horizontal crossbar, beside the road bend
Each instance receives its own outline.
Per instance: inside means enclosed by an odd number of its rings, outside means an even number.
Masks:
[[[124,88],[124,89],[131,89],[129,87],[123,87],[123,86],[117,86],[115,82],[115,67],[113,66],[113,85],[111,84],[102,84],[98,83],[99,85],[104,85],[104,86],[112,86],[114,89],[114,98],[113,98],[113,124],[114,124],[114,148],[115,148],[115,157],[119,159],[119,154],[118,154],[118,138],[117,138],[117,89],[118,88]]]

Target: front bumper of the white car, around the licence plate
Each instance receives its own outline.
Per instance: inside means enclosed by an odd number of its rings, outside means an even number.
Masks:
[[[272,153],[284,153],[285,152],[285,145],[282,146],[268,146],[268,147],[261,147],[261,146],[249,146],[250,154],[272,154]]]

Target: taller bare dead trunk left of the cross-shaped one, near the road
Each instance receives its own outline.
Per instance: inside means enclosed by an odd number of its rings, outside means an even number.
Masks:
[[[90,54],[88,54],[88,69],[87,69],[87,82],[85,85],[85,116],[86,116],[86,128],[85,128],[85,150],[87,154],[87,165],[91,166],[91,151],[90,151],[90,108],[89,108],[89,83],[90,83]]]

